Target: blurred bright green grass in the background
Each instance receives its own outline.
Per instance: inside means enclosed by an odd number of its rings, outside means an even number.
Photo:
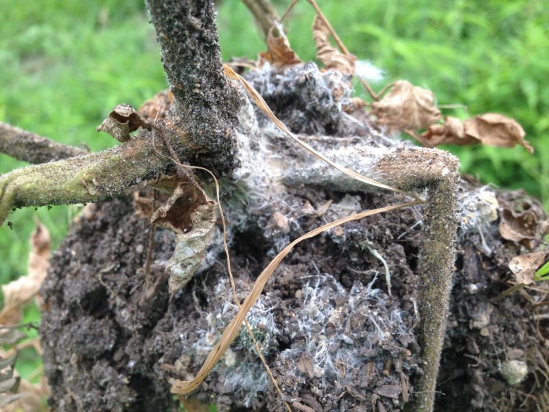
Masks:
[[[289,1],[275,1],[279,12]],[[439,104],[498,112],[524,126],[536,149],[447,147],[463,172],[499,187],[523,187],[549,208],[549,11],[542,0],[318,0],[345,45],[399,78],[434,91]],[[122,0],[0,0],[0,120],[92,150],[116,144],[95,127],[120,102],[139,106],[167,84],[144,5]],[[225,60],[255,58],[264,44],[240,1],[218,4]],[[314,16],[302,0],[288,36],[303,58],[314,58]],[[362,91],[358,91],[359,94]],[[0,173],[23,166],[0,155]],[[15,211],[13,230],[0,227],[0,283],[25,274],[28,239],[37,216],[57,247],[75,206]],[[105,245],[108,247],[108,245]],[[90,251],[91,253],[93,251]],[[25,319],[36,319],[29,309]],[[32,358],[32,356],[27,356]],[[37,361],[20,362],[23,375]],[[21,365],[23,364],[23,365]]]

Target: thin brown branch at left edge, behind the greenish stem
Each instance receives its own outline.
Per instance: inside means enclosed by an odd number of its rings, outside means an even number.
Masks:
[[[3,122],[0,122],[0,152],[29,163],[47,163],[89,153]]]

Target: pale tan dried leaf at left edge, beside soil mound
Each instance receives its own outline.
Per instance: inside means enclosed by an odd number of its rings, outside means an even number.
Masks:
[[[0,324],[10,325],[21,319],[21,306],[40,290],[49,268],[49,231],[38,222],[31,235],[28,273],[2,286],[4,307],[0,312]]]

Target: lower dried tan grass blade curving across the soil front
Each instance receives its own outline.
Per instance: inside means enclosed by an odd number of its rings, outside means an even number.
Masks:
[[[218,341],[218,343],[215,344],[215,346],[207,356],[206,361],[202,365],[202,368],[200,368],[200,371],[198,371],[198,374],[196,374],[196,376],[192,380],[175,380],[172,384],[172,393],[190,393],[191,391],[194,391],[194,389],[196,389],[203,380],[205,380],[211,369],[213,369],[218,361],[220,361],[223,354],[226,352],[227,349],[229,349],[229,346],[235,340],[242,324],[246,320],[246,314],[248,314],[249,310],[255,304],[257,299],[259,299],[259,295],[261,295],[261,292],[263,291],[268,279],[270,278],[274,270],[279,266],[283,258],[285,258],[285,256],[288,255],[290,251],[292,251],[296,244],[303,242],[303,240],[305,239],[313,238],[314,236],[323,233],[324,231],[327,231],[329,229],[333,229],[334,227],[337,227],[339,225],[342,225],[343,223],[351,222],[351,220],[359,220],[362,218],[366,218],[367,216],[373,216],[375,214],[383,213],[385,211],[401,209],[402,207],[418,205],[419,203],[422,202],[413,201],[408,203],[400,203],[398,205],[381,207],[379,209],[362,211],[358,214],[352,214],[351,216],[334,220],[334,222],[328,223],[327,225],[323,225],[312,231],[309,231],[308,233],[305,233],[305,235],[297,238],[296,240],[288,244],[288,246],[286,246],[277,256],[275,256],[275,258],[268,264],[264,271],[261,272],[259,277],[257,277],[252,291],[244,300],[244,303],[242,304],[234,319],[231,321],[231,323],[229,323],[229,325],[227,325],[227,327],[223,331],[220,340]]]

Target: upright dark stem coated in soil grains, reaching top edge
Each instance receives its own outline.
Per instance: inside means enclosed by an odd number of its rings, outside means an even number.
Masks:
[[[239,166],[235,127],[242,95],[222,73],[210,0],[147,0],[174,106],[168,121],[185,130],[198,165],[218,175]]]

